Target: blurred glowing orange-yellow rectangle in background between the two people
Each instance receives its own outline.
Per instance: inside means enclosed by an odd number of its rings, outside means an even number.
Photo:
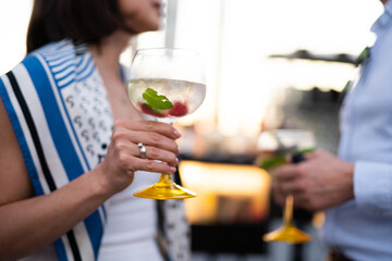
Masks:
[[[182,161],[180,173],[197,197],[185,200],[192,224],[259,222],[268,216],[271,178],[253,165]]]

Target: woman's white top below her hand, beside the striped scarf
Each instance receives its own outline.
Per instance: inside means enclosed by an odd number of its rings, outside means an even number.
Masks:
[[[156,240],[156,200],[133,196],[158,178],[156,173],[136,172],[133,184],[108,201],[108,224],[98,254],[99,261],[162,260]]]

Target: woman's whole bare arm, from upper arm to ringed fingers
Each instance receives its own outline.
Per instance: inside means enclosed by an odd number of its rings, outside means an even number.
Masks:
[[[0,99],[0,260],[24,257],[58,239],[110,196],[132,184],[136,170],[173,173],[180,135],[169,124],[118,122],[103,162],[50,195],[34,197],[24,159]],[[138,158],[134,137],[147,145]],[[154,160],[160,159],[166,163]]]

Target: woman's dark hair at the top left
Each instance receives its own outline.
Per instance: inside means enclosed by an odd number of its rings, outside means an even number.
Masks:
[[[27,30],[27,53],[64,38],[99,44],[125,28],[117,0],[35,0]]]

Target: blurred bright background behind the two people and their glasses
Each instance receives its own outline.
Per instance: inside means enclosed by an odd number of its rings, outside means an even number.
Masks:
[[[264,129],[313,130],[318,148],[336,152],[341,92],[354,77],[356,57],[375,36],[377,0],[166,0],[162,29],[130,44],[137,48],[197,50],[207,97],[182,130],[183,183],[193,261],[323,260],[317,236],[322,213],[297,210],[296,224],[314,235],[305,245],[266,244],[281,223],[270,177],[255,166]],[[32,0],[0,0],[0,74],[25,55]]]

